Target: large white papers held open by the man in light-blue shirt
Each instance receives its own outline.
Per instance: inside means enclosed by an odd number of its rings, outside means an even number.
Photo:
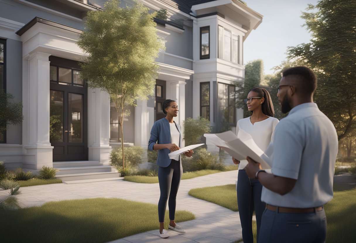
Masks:
[[[260,147],[253,141],[250,134],[244,130],[239,131],[236,136],[232,131],[217,134],[204,134],[204,137],[212,144],[221,147],[236,160],[246,160],[246,157],[261,164],[263,169],[270,169],[271,166],[266,162],[268,157]]]

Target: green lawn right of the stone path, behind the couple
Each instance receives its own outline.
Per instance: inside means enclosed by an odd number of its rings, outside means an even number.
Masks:
[[[356,226],[356,188],[345,190],[340,185],[334,185],[334,198],[324,207],[328,221],[326,243],[356,242],[356,231],[352,230]],[[238,210],[234,184],[195,188],[189,191],[189,195],[214,202],[233,211]]]

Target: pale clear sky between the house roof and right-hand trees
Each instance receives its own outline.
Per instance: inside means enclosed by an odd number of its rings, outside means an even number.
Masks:
[[[244,64],[262,59],[265,74],[287,59],[287,48],[308,43],[310,33],[300,18],[308,4],[318,0],[244,0],[247,6],[263,15],[262,23],[244,41]]]

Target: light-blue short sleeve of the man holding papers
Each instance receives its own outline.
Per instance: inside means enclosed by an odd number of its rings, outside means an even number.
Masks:
[[[298,179],[304,147],[303,133],[297,124],[283,120],[274,131],[272,174]]]

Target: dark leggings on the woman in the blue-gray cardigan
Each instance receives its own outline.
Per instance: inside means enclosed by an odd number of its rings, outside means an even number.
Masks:
[[[158,201],[158,221],[161,223],[164,222],[168,197],[169,219],[174,220],[177,192],[182,174],[180,162],[177,160],[172,160],[167,167],[158,167],[158,182],[161,190],[161,196]]]

